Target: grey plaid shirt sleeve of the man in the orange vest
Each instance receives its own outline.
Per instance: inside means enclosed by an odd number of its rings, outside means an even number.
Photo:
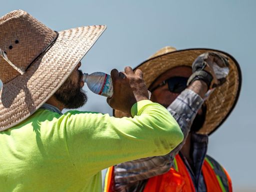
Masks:
[[[130,191],[127,190],[129,187],[134,189],[136,188],[135,185],[141,184],[138,181],[163,174],[170,169],[172,160],[182,148],[192,121],[202,103],[203,99],[190,89],[185,89],[177,96],[167,107],[167,110],[179,124],[184,135],[183,141],[166,155],[152,156],[115,165],[114,180],[117,191],[124,188],[126,191]]]

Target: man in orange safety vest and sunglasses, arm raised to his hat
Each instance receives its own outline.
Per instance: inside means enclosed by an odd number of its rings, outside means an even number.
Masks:
[[[167,107],[184,141],[167,155],[109,168],[105,191],[231,191],[227,172],[206,151],[208,135],[226,119],[239,95],[235,59],[219,50],[164,47],[137,68],[144,72],[151,100]],[[115,110],[114,115],[127,114]]]

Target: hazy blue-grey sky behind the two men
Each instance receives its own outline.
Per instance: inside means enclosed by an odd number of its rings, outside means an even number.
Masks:
[[[58,31],[106,24],[82,60],[81,69],[88,73],[135,67],[166,45],[232,54],[242,70],[241,94],[231,115],[210,136],[208,154],[228,170],[237,190],[256,188],[255,5],[255,0],[6,0],[0,15],[24,9]],[[81,110],[112,112],[104,97],[90,91],[88,97]]]

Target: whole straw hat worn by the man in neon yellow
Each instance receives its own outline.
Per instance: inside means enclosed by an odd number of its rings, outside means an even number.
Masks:
[[[23,10],[0,17],[0,131],[35,112],[105,28],[93,25],[56,32]]]

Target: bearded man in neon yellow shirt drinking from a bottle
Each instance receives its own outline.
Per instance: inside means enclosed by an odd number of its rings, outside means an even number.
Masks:
[[[104,29],[56,32],[23,10],[0,18],[0,191],[101,191],[101,169],[164,155],[182,141],[130,67],[111,71],[107,102],[133,118],[61,113],[86,102],[80,60]]]

